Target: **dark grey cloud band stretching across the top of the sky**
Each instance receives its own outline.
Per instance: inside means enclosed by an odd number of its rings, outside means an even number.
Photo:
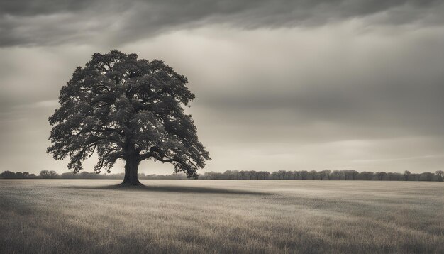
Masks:
[[[433,0],[1,1],[0,45],[118,45],[179,28],[316,26],[349,18],[371,23],[443,23]]]

